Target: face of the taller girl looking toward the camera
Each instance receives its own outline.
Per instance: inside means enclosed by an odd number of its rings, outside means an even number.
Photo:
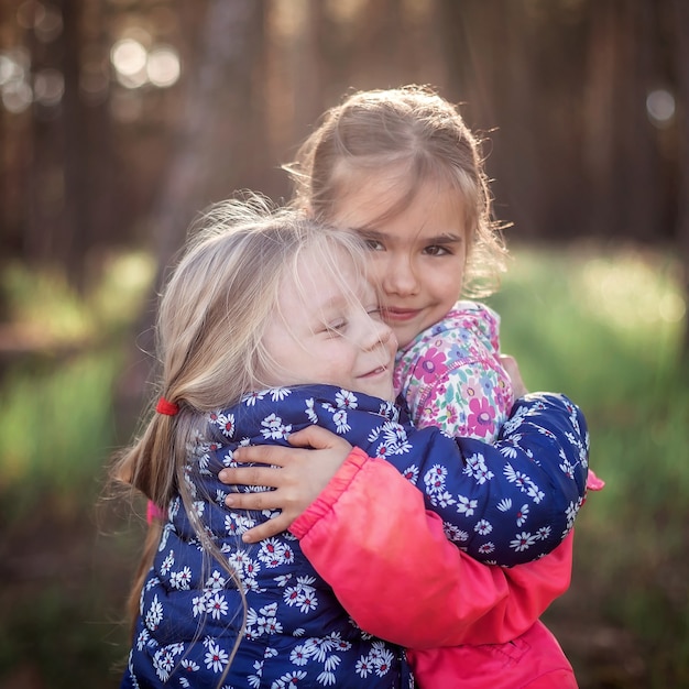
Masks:
[[[459,298],[468,231],[457,192],[436,182],[424,183],[402,212],[378,220],[400,201],[391,174],[360,177],[330,220],[367,240],[372,275],[382,288],[383,319],[405,347]]]

